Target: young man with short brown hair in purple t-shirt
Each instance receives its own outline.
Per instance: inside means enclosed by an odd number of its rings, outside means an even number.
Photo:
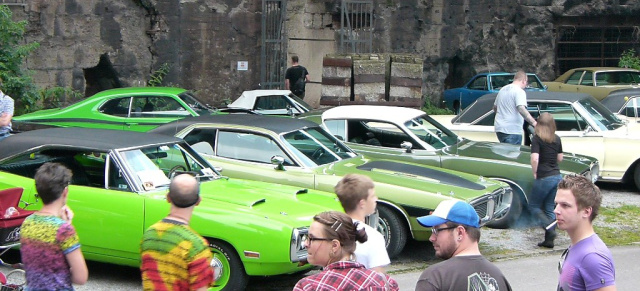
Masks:
[[[558,291],[615,291],[613,257],[593,231],[602,202],[600,189],[583,176],[565,176],[558,184],[555,202],[558,228],[571,238],[558,265]]]

